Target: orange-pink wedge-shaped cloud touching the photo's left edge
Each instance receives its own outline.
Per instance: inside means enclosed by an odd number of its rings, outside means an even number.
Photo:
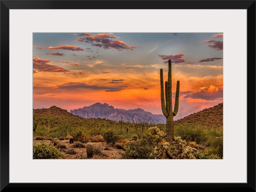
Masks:
[[[51,60],[43,60],[33,57],[33,73],[37,72],[70,72],[69,70],[57,65],[48,64]]]

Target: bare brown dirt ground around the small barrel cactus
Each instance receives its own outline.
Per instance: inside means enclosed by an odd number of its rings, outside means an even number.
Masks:
[[[36,140],[33,138],[33,144],[38,144],[43,141],[46,144],[51,144],[55,142],[55,147],[59,149],[61,153],[64,154],[64,159],[86,159],[86,144],[79,141],[74,141],[74,143],[69,143],[69,140],[59,140],[54,138],[53,140]],[[78,144],[82,144],[84,147],[76,147]],[[115,146],[108,144],[106,142],[91,142],[93,145],[94,155],[92,159],[122,159],[121,153],[124,149],[117,149]],[[60,147],[60,148],[59,148]]]

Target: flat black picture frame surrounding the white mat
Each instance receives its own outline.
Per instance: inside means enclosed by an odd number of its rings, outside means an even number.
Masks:
[[[61,3],[60,3],[61,2]],[[112,3],[111,3],[112,2]],[[10,9],[246,9],[247,10],[247,183],[10,183],[9,109],[1,114],[0,191],[255,191],[255,0],[179,1],[1,0],[1,101],[9,103]],[[136,3],[136,6],[135,6]],[[110,4],[111,7],[110,7]],[[115,6],[116,5],[116,6]],[[249,65],[248,65],[249,64]],[[248,103],[249,102],[249,103]],[[249,104],[249,106],[248,106]],[[239,110],[239,109],[238,109]],[[244,111],[246,112],[246,111]],[[239,113],[239,111],[238,111]],[[246,122],[245,122],[246,123]],[[239,158],[238,154],[234,158]],[[56,173],[57,174],[57,173]]]

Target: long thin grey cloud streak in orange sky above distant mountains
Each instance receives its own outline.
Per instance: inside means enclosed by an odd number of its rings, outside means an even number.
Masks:
[[[93,90],[105,90],[106,92],[117,92],[123,90],[127,86],[118,87],[107,87],[98,85],[88,85],[86,83],[70,82],[66,84],[57,85],[56,88],[67,89],[67,90],[82,90],[82,89],[93,89]]]

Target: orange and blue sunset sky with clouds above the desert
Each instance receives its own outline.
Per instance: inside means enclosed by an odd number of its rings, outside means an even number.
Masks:
[[[107,103],[163,114],[172,60],[174,120],[223,102],[223,33],[33,33],[33,108]]]

